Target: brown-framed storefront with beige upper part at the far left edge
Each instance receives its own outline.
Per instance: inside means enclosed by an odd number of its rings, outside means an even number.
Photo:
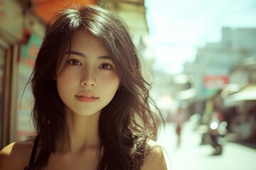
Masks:
[[[17,61],[22,35],[22,8],[16,1],[0,0],[0,147],[14,140]]]

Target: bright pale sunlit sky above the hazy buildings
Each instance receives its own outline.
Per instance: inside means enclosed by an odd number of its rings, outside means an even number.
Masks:
[[[145,0],[155,69],[177,74],[221,28],[256,28],[256,0]]]

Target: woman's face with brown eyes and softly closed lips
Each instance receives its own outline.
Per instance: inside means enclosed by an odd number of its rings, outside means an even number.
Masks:
[[[80,115],[99,113],[119,87],[114,62],[105,46],[82,29],[75,33],[57,75],[58,94],[66,111]]]

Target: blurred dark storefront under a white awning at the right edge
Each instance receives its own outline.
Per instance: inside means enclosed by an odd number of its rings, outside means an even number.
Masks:
[[[256,140],[256,84],[247,84],[242,89],[225,96],[226,108],[233,108],[230,114],[231,130],[238,140]]]

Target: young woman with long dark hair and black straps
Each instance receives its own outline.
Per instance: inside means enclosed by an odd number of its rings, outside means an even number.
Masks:
[[[112,11],[84,6],[57,13],[31,86],[36,135],[2,149],[0,169],[166,169],[153,142],[160,114],[151,111],[150,84]]]

